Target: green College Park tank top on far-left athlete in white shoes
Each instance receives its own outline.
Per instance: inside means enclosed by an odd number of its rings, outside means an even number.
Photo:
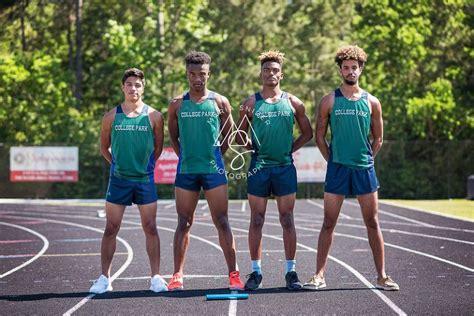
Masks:
[[[148,110],[145,104],[137,117],[127,117],[122,106],[117,106],[111,133],[111,175],[137,182],[154,181],[155,143]]]

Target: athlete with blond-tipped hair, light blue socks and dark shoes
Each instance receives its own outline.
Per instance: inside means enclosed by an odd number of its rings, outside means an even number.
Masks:
[[[299,290],[303,284],[295,271],[296,230],[293,209],[297,182],[292,153],[312,138],[313,131],[305,114],[303,102],[280,89],[284,54],[278,51],[267,51],[259,56],[259,60],[262,90],[243,103],[237,124],[239,127],[237,142],[253,149],[247,176],[247,192],[251,209],[249,249],[252,273],[248,276],[245,288],[256,290],[262,285],[262,227],[267,201],[273,194],[277,201],[283,228],[286,286],[290,290]],[[293,139],[295,121],[301,132],[296,140]],[[247,137],[249,127],[252,131],[251,139]]]

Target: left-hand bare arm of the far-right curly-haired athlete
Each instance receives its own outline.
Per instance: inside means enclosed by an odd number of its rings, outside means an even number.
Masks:
[[[325,95],[319,101],[318,111],[316,114],[316,131],[315,138],[321,154],[326,161],[329,160],[329,144],[326,141],[326,134],[329,126],[329,116],[334,104],[334,92]]]

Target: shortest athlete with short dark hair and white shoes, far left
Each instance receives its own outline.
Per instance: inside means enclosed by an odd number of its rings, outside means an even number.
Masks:
[[[155,162],[163,148],[163,117],[143,103],[145,75],[136,68],[122,77],[124,101],[104,115],[100,132],[100,152],[111,164],[105,212],[106,226],[101,246],[102,275],[90,288],[101,294],[112,290],[110,269],[117,234],[127,205],[138,205],[151,266],[154,292],[166,291],[159,275],[160,239],[156,229],[157,194]]]

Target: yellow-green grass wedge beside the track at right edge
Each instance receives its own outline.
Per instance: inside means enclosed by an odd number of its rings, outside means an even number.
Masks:
[[[400,206],[413,207],[420,210],[452,215],[456,217],[474,220],[474,201],[464,199],[452,200],[380,200],[398,204]]]

